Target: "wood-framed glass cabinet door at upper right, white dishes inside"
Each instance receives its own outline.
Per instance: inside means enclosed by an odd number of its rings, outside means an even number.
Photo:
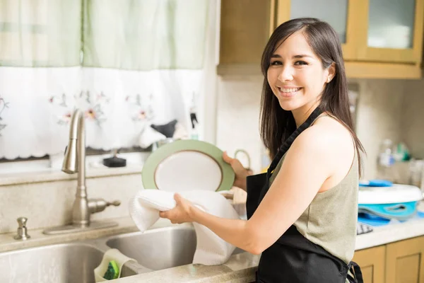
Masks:
[[[362,3],[360,3],[362,2]],[[421,62],[424,0],[359,0],[363,17],[358,59],[377,62]]]

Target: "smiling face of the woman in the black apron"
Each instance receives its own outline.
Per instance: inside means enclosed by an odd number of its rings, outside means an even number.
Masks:
[[[268,83],[284,110],[310,108],[334,76],[334,67],[322,68],[321,59],[301,31],[290,35],[273,55]]]

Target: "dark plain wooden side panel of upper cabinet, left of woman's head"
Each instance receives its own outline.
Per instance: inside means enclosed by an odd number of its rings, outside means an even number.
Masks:
[[[254,64],[259,69],[274,30],[275,0],[221,0],[220,64]]]

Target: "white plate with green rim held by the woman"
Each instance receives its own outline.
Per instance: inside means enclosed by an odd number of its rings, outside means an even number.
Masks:
[[[206,141],[180,139],[148,156],[141,171],[145,189],[230,190],[235,173],[223,161],[223,151]]]

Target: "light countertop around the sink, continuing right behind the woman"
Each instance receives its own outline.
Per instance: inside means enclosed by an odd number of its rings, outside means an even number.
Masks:
[[[102,236],[114,235],[117,233],[129,233],[138,231],[129,217],[122,219],[112,219],[119,223],[119,226],[110,229],[98,229],[80,233],[70,233],[67,235],[52,236],[44,235],[42,230],[28,231],[31,238],[27,241],[13,240],[13,233],[0,234],[0,252],[6,250],[16,250],[33,246],[49,245],[53,243],[64,243],[66,241],[77,241],[88,238],[99,238]],[[173,225],[167,219],[160,219],[153,227],[160,228]],[[184,225],[184,224],[183,224]],[[357,236],[356,250],[362,250],[374,246],[384,245],[394,241],[401,241],[406,238],[413,238],[424,235],[424,219],[411,219],[404,223],[391,223],[387,226],[375,227],[371,233]],[[250,253],[239,253],[232,255],[230,260],[224,265],[183,265],[158,270],[141,275],[124,277],[111,280],[117,283],[135,282],[252,282],[254,272],[257,270],[260,255]]]

